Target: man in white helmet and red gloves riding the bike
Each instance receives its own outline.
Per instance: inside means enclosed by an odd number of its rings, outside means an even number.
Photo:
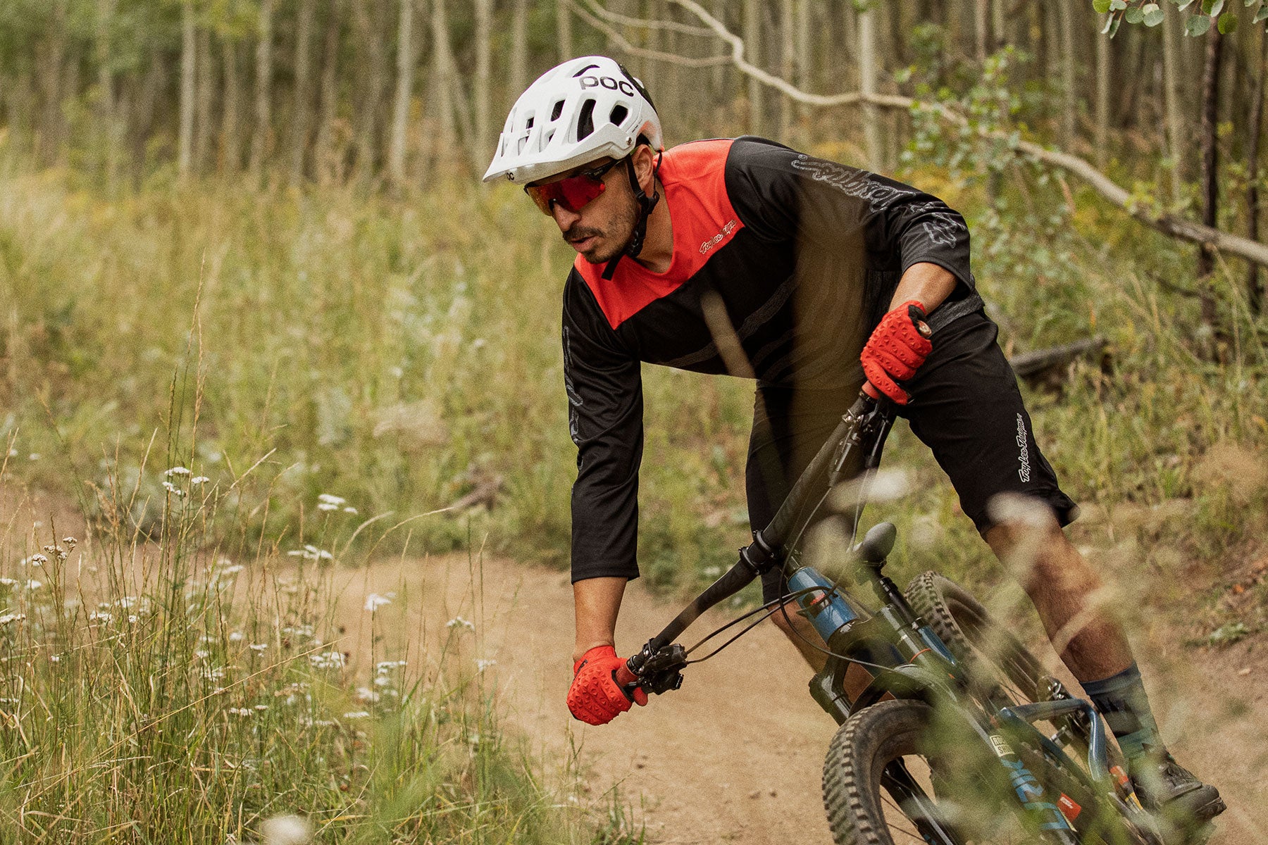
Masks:
[[[762,138],[664,149],[647,91],[602,56],[567,61],[524,91],[484,174],[500,177],[524,185],[577,251],[562,332],[578,450],[568,692],[577,718],[606,723],[631,703],[614,678],[614,631],[625,584],[638,576],[640,364],[757,380],[746,470],[754,527],[773,516],[866,378],[929,446],[995,555],[1035,547],[1023,587],[1049,636],[1085,619],[1061,659],[1117,737],[1141,801],[1184,820],[1222,812],[1215,787],[1167,751],[1122,628],[1089,600],[1101,581],[1063,532],[1077,507],[1035,442],[959,213]],[[1037,528],[1033,516],[988,507],[1008,493],[1045,505]],[[785,592],[779,570],[762,590],[766,600]],[[823,665],[803,641],[814,633],[801,617],[772,618]],[[647,703],[642,690],[634,698]]]

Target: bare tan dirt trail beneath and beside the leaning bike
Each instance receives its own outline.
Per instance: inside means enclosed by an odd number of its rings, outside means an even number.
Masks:
[[[619,784],[650,842],[831,842],[819,778],[834,725],[810,699],[809,670],[773,626],[691,666],[677,693],[595,728],[572,720],[563,703],[573,633],[567,575],[486,560],[474,583],[465,557],[383,564],[349,580],[344,604],[359,608],[365,593],[403,589],[413,631],[455,614],[473,619],[474,656],[497,660],[487,671],[496,673],[512,722],[547,754],[566,755],[571,735],[592,772],[591,798]],[[635,581],[619,649],[642,644],[677,609]],[[721,618],[706,617],[692,631]],[[1137,641],[1150,645],[1144,663],[1173,749],[1217,783],[1230,806],[1212,845],[1268,842],[1268,660],[1254,640],[1194,651],[1159,627]]]

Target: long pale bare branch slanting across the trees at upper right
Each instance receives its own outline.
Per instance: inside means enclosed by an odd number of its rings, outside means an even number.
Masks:
[[[808,91],[803,91],[801,89],[796,87],[787,80],[780,76],[775,76],[773,73],[768,73],[767,71],[763,71],[761,67],[757,67],[756,65],[752,65],[748,61],[746,61],[744,39],[737,35],[735,33],[730,32],[729,29],[727,29],[725,24],[723,24],[720,20],[709,14],[704,9],[704,6],[701,6],[699,3],[696,3],[695,0],[671,0],[671,3],[675,3],[686,9],[687,11],[690,11],[691,14],[694,14],[700,22],[706,24],[709,29],[714,32],[714,34],[716,34],[719,38],[730,44],[730,56],[729,57],[714,56],[709,58],[691,60],[691,58],[685,58],[682,56],[634,47],[623,37],[620,37],[620,34],[616,33],[611,27],[600,22],[593,15],[583,11],[577,3],[573,3],[573,8],[577,9],[578,14],[581,14],[581,16],[588,20],[592,25],[602,29],[605,33],[612,37],[612,39],[616,41],[616,43],[620,44],[623,49],[628,49],[629,52],[638,56],[649,56],[652,58],[673,61],[692,67],[716,65],[720,61],[729,62],[734,65],[741,72],[747,73],[748,76],[752,76],[763,85],[773,87],[780,92],[785,94],[786,96],[791,98],[792,100],[796,100],[798,103],[805,103],[806,105],[834,106],[834,105],[852,105],[858,103],[870,103],[874,105],[890,109],[912,110],[915,108],[923,108],[923,109],[929,109],[931,111],[937,114],[943,120],[947,120],[948,123],[954,123],[956,125],[969,124],[967,118],[965,118],[962,114],[957,111],[954,111],[946,105],[942,105],[940,103],[924,103],[921,100],[913,100],[912,98],[900,96],[896,94],[865,95],[858,91],[852,91],[846,94],[825,95],[825,94],[810,94]],[[597,6],[596,4],[595,8],[601,8],[601,6]],[[614,13],[606,13],[606,14],[610,15],[612,19],[620,19],[621,23],[626,23],[629,25],[653,24],[653,22],[649,20],[618,16],[614,15]],[[1017,155],[1030,156],[1031,158],[1042,161],[1046,165],[1059,167],[1078,176],[1084,182],[1087,182],[1097,194],[1110,200],[1118,208],[1123,209],[1134,219],[1136,219],[1140,223],[1144,223],[1151,229],[1161,232],[1163,234],[1177,238],[1179,241],[1201,243],[1212,247],[1215,250],[1226,252],[1229,255],[1235,255],[1240,258],[1245,258],[1246,261],[1250,261],[1253,264],[1268,267],[1268,246],[1259,243],[1258,241],[1252,241],[1249,238],[1244,238],[1236,234],[1230,234],[1227,232],[1222,232],[1220,229],[1208,226],[1202,226],[1201,223],[1194,223],[1175,214],[1153,213],[1148,208],[1144,208],[1132,201],[1131,194],[1126,189],[1117,185],[1112,179],[1110,179],[1108,176],[1106,176],[1099,170],[1089,165],[1087,161],[1079,158],[1078,156],[1073,156],[1070,153],[1061,152],[1059,149],[1047,149],[1030,141],[1021,141],[1017,138],[1012,138],[1008,133],[1004,132],[981,129],[979,130],[979,134],[984,138],[1004,141],[1008,144],[1008,147]]]

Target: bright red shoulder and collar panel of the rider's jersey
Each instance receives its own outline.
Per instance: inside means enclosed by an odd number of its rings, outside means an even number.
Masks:
[[[735,232],[743,228],[727,195],[727,156],[730,138],[692,141],[664,152],[661,162],[662,201],[673,223],[673,257],[664,272],[652,272],[637,261],[616,265],[604,279],[604,265],[577,256],[573,266],[615,329],[626,319],[696,275]]]

